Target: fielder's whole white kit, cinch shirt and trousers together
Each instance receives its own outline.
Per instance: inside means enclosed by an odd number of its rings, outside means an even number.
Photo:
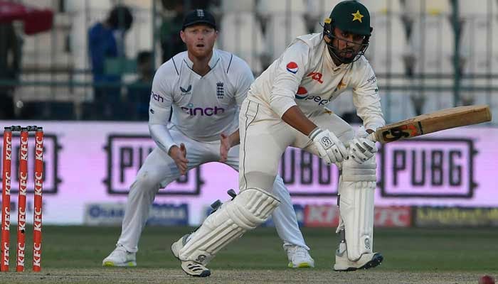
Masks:
[[[238,129],[240,104],[253,82],[250,67],[240,58],[222,50],[213,50],[211,70],[204,76],[192,70],[187,53],[179,53],[165,62],[154,76],[149,108],[150,124],[159,126],[154,140],[157,148],[147,156],[129,190],[122,231],[117,244],[136,252],[149,208],[161,187],[180,177],[174,160],[167,154],[172,145],[184,143],[188,169],[220,159],[220,133]],[[169,120],[170,109],[173,116]],[[159,136],[159,137],[158,137]],[[164,139],[164,136],[168,136]],[[239,168],[239,149],[228,151],[226,164]],[[282,178],[272,181],[274,194],[281,201],[272,214],[277,233],[285,244],[308,249],[304,243],[290,194]],[[167,187],[166,187],[167,189]],[[225,190],[225,189],[220,189]]]

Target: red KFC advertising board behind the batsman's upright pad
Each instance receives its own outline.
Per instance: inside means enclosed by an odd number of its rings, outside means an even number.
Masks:
[[[306,205],[304,207],[304,226],[339,226],[339,207],[334,204]],[[410,207],[375,207],[373,225],[376,227],[411,226]]]

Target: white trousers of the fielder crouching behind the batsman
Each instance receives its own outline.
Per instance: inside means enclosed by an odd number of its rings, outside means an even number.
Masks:
[[[220,141],[199,142],[195,141],[178,131],[175,126],[169,129],[173,140],[180,145],[184,143],[187,151],[186,158],[189,160],[189,170],[198,167],[203,163],[217,162],[220,159]],[[231,148],[228,152],[226,165],[238,170],[239,148]],[[122,231],[117,245],[124,246],[130,252],[138,251],[138,242],[142,230],[144,229],[149,208],[154,201],[159,189],[166,187],[180,177],[178,168],[174,160],[164,151],[155,148],[145,160],[140,168],[136,180],[129,190],[128,200],[124,211]],[[297,225],[296,213],[290,194],[284,185],[282,178],[275,176],[272,179],[270,188],[273,194],[281,201],[281,204],[272,214],[273,222],[280,239],[284,244],[303,246],[309,249]],[[266,187],[269,188],[269,187]],[[166,188],[167,190],[167,188]],[[227,190],[220,188],[220,190]],[[214,201],[214,200],[213,200]]]

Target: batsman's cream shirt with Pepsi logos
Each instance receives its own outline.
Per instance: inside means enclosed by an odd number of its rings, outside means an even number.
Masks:
[[[297,105],[304,114],[322,111],[347,88],[366,129],[386,124],[377,79],[364,56],[337,67],[321,33],[297,37],[251,85],[248,99],[282,115]]]

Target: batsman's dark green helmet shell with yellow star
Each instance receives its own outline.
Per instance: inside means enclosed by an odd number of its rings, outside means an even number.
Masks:
[[[371,35],[369,10],[358,1],[339,2],[332,9],[330,17],[325,19],[325,23],[331,22],[342,31],[357,35]]]

